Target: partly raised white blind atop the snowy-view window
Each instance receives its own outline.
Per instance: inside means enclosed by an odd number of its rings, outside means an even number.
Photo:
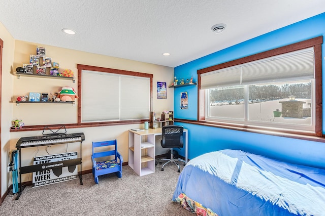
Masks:
[[[201,89],[314,78],[314,50],[303,49],[201,74]]]

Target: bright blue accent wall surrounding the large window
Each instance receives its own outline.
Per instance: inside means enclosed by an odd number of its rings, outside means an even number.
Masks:
[[[197,70],[271,49],[294,44],[302,40],[325,35],[325,13],[244,41],[238,45],[212,53],[175,68],[178,79],[193,76]],[[217,35],[216,35],[217,37]],[[324,38],[323,38],[324,40]],[[325,97],[325,46],[322,44],[322,99]],[[180,93],[188,93],[188,109],[180,109]],[[323,100],[324,101],[324,100]],[[325,134],[325,107],[322,106],[322,131]],[[197,120],[198,87],[174,89],[174,117]],[[221,149],[241,149],[293,163],[325,168],[325,143],[235,131],[196,124],[179,123],[188,129],[188,158]],[[180,150],[184,154],[184,149]]]

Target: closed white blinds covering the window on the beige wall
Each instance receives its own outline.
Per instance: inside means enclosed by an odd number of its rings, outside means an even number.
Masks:
[[[82,122],[149,118],[149,112],[150,78],[82,70]]]

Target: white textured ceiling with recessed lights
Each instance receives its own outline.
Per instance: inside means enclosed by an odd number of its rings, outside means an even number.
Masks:
[[[324,0],[0,0],[15,39],[170,67],[323,12]]]

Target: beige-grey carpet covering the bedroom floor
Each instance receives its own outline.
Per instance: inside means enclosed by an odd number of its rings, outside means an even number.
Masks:
[[[172,201],[179,177],[177,166],[164,171],[156,166],[154,174],[140,177],[128,165],[122,178],[101,176],[95,184],[92,174],[79,179],[32,188],[27,186],[18,200],[8,194],[0,215],[194,215]],[[181,165],[183,168],[183,165]]]

